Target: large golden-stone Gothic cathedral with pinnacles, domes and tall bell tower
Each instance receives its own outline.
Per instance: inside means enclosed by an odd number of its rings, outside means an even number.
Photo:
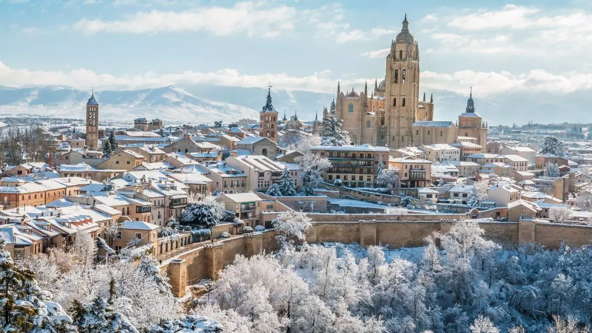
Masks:
[[[369,143],[391,149],[406,146],[454,143],[458,137],[473,137],[475,143],[487,146],[487,124],[477,113],[471,97],[466,110],[452,121],[434,121],[433,96],[419,95],[419,46],[409,31],[407,15],[397,39],[391,41],[385,79],[374,82],[368,91],[342,91],[337,83],[337,100],[323,117],[343,120],[343,129],[358,145]]]

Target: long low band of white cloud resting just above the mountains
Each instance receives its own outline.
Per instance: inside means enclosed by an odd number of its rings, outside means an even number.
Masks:
[[[227,85],[234,87],[266,87],[269,81],[275,87],[299,89],[316,92],[332,92],[338,78],[331,78],[329,70],[315,72],[307,76],[289,76],[286,73],[240,73],[226,68],[214,72],[185,71],[172,74],[146,72],[133,76],[114,76],[95,73],[90,69],[71,71],[29,71],[13,69],[0,62],[0,85],[65,85],[87,89],[94,85],[98,89],[136,89],[156,88],[165,85],[184,83]],[[561,75],[533,69],[525,73],[474,72],[470,70],[453,73],[424,71],[421,74],[422,87],[446,89],[466,93],[469,87],[481,96],[513,91],[539,91],[565,94],[574,91],[592,91],[592,73],[563,73]],[[361,86],[374,78],[361,78],[358,75],[339,78],[342,87]]]

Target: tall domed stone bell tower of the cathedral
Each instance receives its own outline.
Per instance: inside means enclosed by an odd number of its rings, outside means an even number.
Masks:
[[[385,76],[385,145],[397,149],[413,146],[411,125],[419,105],[419,48],[409,32],[407,15],[397,39],[391,42]]]

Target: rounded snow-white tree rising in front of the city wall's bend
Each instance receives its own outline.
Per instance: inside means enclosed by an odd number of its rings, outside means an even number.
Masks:
[[[279,232],[276,236],[282,246],[300,245],[306,239],[306,231],[313,226],[310,217],[303,212],[288,210],[272,220],[272,225]]]

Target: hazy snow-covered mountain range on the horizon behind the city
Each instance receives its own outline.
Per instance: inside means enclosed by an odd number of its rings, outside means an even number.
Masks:
[[[457,92],[427,89],[434,95],[435,120],[452,120],[464,112],[467,96]],[[0,116],[40,115],[83,119],[88,91],[62,86],[2,87]],[[144,117],[178,123],[225,123],[243,118],[258,119],[267,89],[185,84],[149,89],[96,91],[99,119],[131,121]],[[333,95],[321,92],[272,90],[280,118],[295,112],[303,120],[321,116]],[[586,94],[548,94],[516,91],[510,94],[475,97],[477,112],[488,124],[581,123],[590,121]]]

